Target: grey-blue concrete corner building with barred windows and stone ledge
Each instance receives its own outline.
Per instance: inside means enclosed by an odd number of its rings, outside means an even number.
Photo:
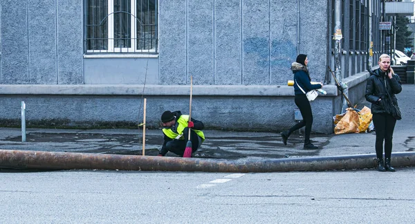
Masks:
[[[336,2],[342,81],[356,103],[382,52],[380,1],[2,0],[1,125],[19,125],[24,101],[28,125],[136,127],[147,98],[157,128],[165,110],[189,113],[192,76],[192,117],[206,128],[280,131],[296,122],[287,81],[303,53],[328,92],[312,102],[313,131],[332,133]]]

